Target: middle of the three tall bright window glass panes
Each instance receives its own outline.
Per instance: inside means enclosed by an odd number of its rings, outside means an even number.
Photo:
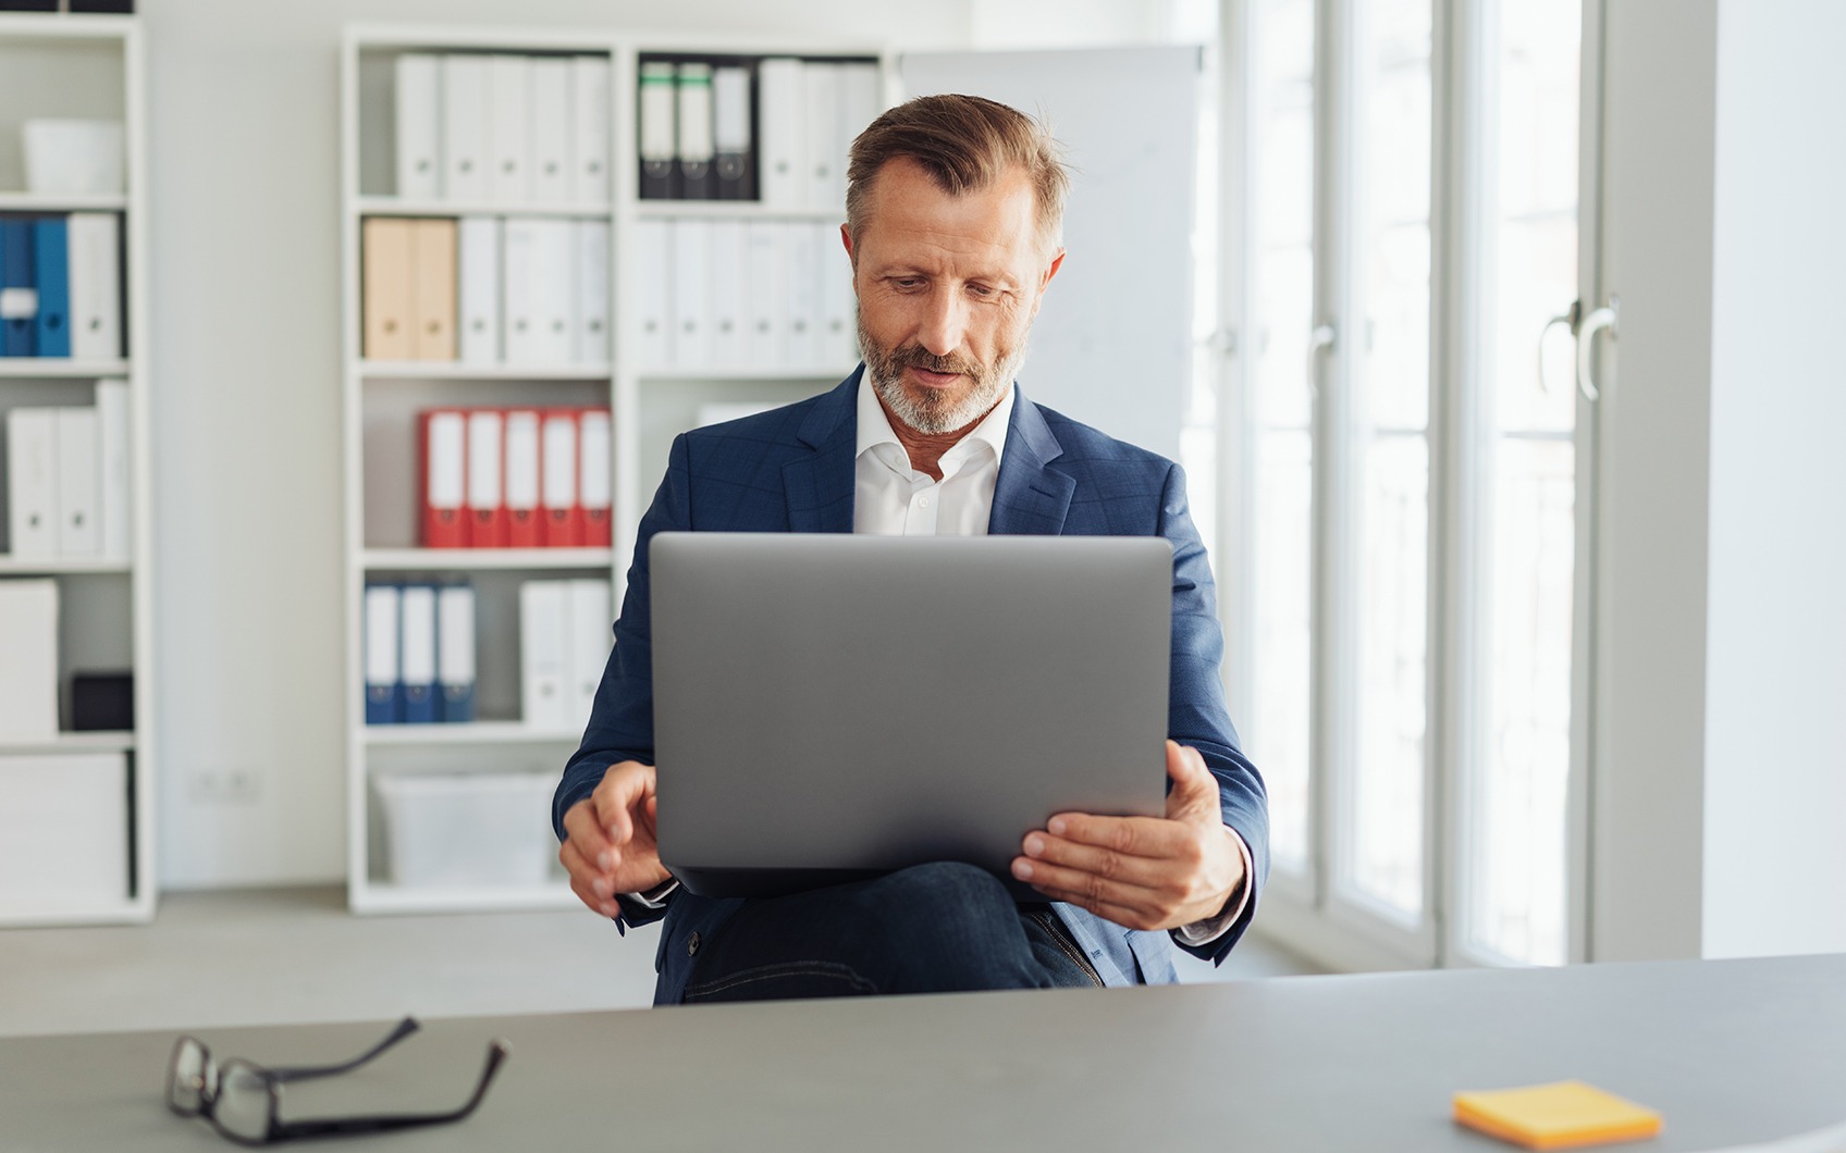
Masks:
[[[1355,6],[1355,734],[1342,880],[1423,911],[1429,666],[1429,0]]]

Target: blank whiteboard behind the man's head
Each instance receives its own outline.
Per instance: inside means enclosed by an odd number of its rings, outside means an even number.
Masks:
[[[1170,459],[1193,376],[1200,59],[1196,46],[899,59],[906,98],[986,96],[1050,125],[1073,170],[1069,255],[1021,391]]]

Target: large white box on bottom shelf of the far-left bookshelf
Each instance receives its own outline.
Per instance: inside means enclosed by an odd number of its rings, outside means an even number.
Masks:
[[[127,756],[0,756],[0,911],[127,900]]]

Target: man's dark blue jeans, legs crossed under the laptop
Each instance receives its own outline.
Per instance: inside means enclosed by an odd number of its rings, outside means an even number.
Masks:
[[[941,862],[744,902],[698,943],[685,1004],[1100,985],[1045,904]]]

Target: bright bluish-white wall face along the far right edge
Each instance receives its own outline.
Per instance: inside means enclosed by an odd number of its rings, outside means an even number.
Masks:
[[[1846,950],[1846,6],[1719,9],[1704,956]]]

